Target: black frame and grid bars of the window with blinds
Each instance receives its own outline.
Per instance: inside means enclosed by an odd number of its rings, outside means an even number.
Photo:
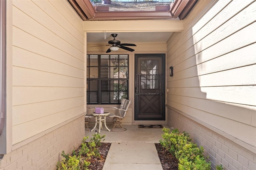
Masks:
[[[91,77],[90,67],[96,67],[96,66],[90,66],[90,59],[89,59],[90,56],[94,56],[94,57],[98,56],[98,77],[90,78]],[[104,56],[104,57],[108,56],[108,58],[109,58],[108,61],[110,61],[111,57],[118,57],[118,70],[120,70],[120,68],[122,68],[122,67],[126,67],[126,69],[127,69],[126,78],[120,78],[120,77],[111,78],[110,75],[109,75],[108,78],[102,78],[101,77],[101,72],[102,72],[102,68],[103,68],[103,67],[101,67],[101,65],[102,65],[102,56]],[[120,64],[120,57],[122,57],[122,56],[127,57],[127,65],[126,66],[119,65]],[[128,54],[113,54],[113,55],[112,54],[110,54],[110,55],[108,55],[108,54],[88,54],[86,58],[87,58],[87,66],[86,66],[86,69],[87,69],[87,74],[86,74],[86,78],[87,78],[86,79],[87,101],[86,101],[86,103],[88,105],[113,105],[113,104],[120,104],[121,103],[121,99],[117,99],[118,100],[117,102],[113,102],[110,99],[111,93],[114,92],[114,90],[111,90],[112,89],[111,87],[113,87],[113,86],[111,86],[111,83],[109,83],[108,90],[105,90],[105,91],[102,90],[102,81],[105,81],[105,82],[106,81],[127,81],[127,89],[126,90],[118,89],[118,95],[120,95],[120,92],[125,92],[125,93],[127,93],[126,98],[129,99],[129,55]],[[109,63],[108,66],[105,66],[105,68],[107,68],[107,67],[109,68],[108,70],[110,71],[111,70],[110,68],[113,67],[113,66],[111,66],[110,63]],[[97,99],[97,102],[94,102],[94,103],[90,102],[90,94],[89,93],[93,92],[93,91],[90,91],[89,81],[98,81],[98,82],[96,82],[98,84],[98,88],[97,88],[98,89],[97,90],[98,91],[98,95],[97,95],[98,99]],[[113,87],[113,89],[114,89],[114,87]],[[109,92],[108,102],[102,102],[102,93],[104,93],[104,92]]]

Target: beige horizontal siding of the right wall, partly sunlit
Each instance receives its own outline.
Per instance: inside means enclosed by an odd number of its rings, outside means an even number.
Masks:
[[[166,105],[256,153],[255,7],[196,4],[167,42],[166,72],[173,66],[174,76],[166,77]]]

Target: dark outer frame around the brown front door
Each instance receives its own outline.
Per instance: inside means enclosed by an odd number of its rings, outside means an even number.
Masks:
[[[136,73],[138,71],[138,57],[162,57],[162,118],[161,119],[144,119],[136,120],[136,109],[138,103],[136,102]],[[166,53],[141,53],[134,54],[134,121],[166,121],[166,110],[165,110],[165,86],[166,86]]]

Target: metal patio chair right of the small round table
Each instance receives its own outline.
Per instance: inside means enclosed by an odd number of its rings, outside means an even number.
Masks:
[[[120,108],[110,107],[113,109],[117,109],[119,112],[118,115],[111,114],[111,113],[108,115],[108,117],[113,118],[113,129],[116,127],[116,125],[119,125],[121,128],[123,128],[121,125],[121,123],[122,123],[121,121],[122,121],[122,119],[124,119],[130,103],[131,103],[131,101],[128,99],[122,99]],[[125,129],[125,128],[123,128],[123,129]]]

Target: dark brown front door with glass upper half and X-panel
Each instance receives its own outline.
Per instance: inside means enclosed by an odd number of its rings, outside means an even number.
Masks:
[[[165,120],[165,54],[135,54],[135,120]]]

